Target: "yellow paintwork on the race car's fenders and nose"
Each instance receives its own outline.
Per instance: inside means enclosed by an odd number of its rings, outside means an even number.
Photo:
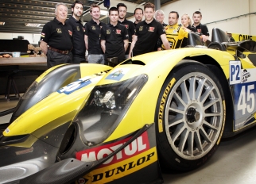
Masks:
[[[126,112],[126,115],[123,117],[120,125],[118,125],[111,136],[109,136],[104,142],[126,136],[137,131],[139,128],[142,128],[145,124],[152,124],[154,122],[157,98],[165,79],[169,75],[169,72],[172,71],[173,67],[175,67],[176,64],[185,57],[204,55],[208,55],[212,59],[215,59],[215,61],[219,63],[220,67],[223,68],[226,78],[229,78],[229,61],[234,60],[234,56],[228,52],[208,48],[182,48],[169,51],[152,52],[133,58],[134,60],[141,60],[145,65],[126,64],[114,67],[113,71],[119,69],[128,70],[126,75],[122,77],[121,81],[142,74],[148,77],[148,81]],[[243,67],[254,67],[247,58],[241,59],[241,62]],[[111,68],[104,65],[98,66],[99,68],[95,67],[94,64],[82,64],[81,73],[83,75],[91,75],[95,74],[97,71],[104,71],[107,70],[107,68]],[[33,108],[23,113],[21,117],[18,117],[17,120],[8,127],[9,132],[3,132],[4,136],[25,135],[37,132],[38,137],[46,131],[43,130],[44,128],[42,127],[56,128],[65,122],[71,121],[76,117],[76,113],[80,111],[80,108],[83,107],[85,99],[95,85],[117,82],[115,80],[105,79],[110,75],[110,73],[111,71],[107,75],[97,76],[97,81],[99,82],[91,83],[80,90],[76,90],[72,94],[52,93],[43,101],[34,105]],[[66,118],[66,121],[64,121],[63,118],[61,122],[58,121],[60,117],[63,117],[64,119]],[[51,123],[51,125],[45,126],[48,123]],[[39,128],[42,129],[39,131]]]

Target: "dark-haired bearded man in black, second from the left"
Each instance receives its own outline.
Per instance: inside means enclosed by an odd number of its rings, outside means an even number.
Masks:
[[[85,43],[84,43],[84,28],[80,21],[80,16],[83,13],[83,3],[76,1],[71,6],[72,16],[69,17],[66,23],[72,26],[73,33],[73,63],[85,62]]]

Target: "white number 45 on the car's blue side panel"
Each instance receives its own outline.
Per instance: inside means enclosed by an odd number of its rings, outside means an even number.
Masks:
[[[239,95],[238,110],[242,110],[242,115],[244,115],[245,113],[252,113],[254,110],[255,98],[254,93],[250,92],[251,90],[254,90],[254,84],[242,86],[241,88],[241,93]]]

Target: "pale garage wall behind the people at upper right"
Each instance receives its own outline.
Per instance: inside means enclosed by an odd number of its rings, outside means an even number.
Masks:
[[[256,35],[256,15],[239,17],[247,13],[256,12],[255,0],[179,0],[162,6],[161,10],[165,12],[165,23],[167,24],[170,11],[177,11],[180,17],[182,14],[188,13],[192,18],[192,13],[200,10],[203,14],[201,22],[208,24],[210,34],[211,29],[217,27],[229,33]],[[134,18],[130,20],[134,21]]]

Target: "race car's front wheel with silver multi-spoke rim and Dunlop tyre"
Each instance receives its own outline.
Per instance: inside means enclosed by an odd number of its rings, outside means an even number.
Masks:
[[[188,62],[171,71],[157,102],[157,151],[168,171],[191,171],[205,163],[226,120],[219,80],[207,66]]]

